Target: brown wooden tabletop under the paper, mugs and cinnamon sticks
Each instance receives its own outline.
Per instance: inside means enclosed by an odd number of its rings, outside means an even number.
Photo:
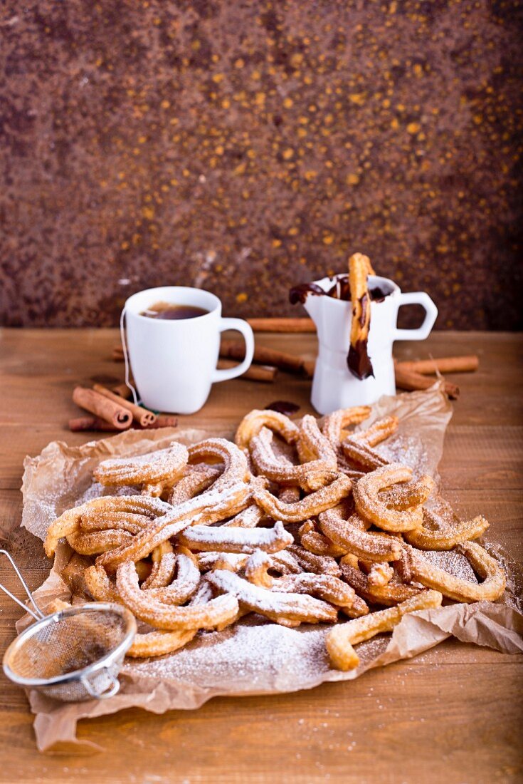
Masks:
[[[313,357],[312,335],[257,336],[260,343]],[[24,456],[71,434],[76,383],[112,376],[116,330],[0,332],[0,542],[16,556],[32,589],[49,572],[38,539],[21,531]],[[463,517],[485,514],[490,537],[523,561],[521,336],[435,332],[397,344],[401,358],[480,357],[474,375],[450,377],[462,394],[440,466],[444,495]],[[107,380],[107,379],[106,379]],[[280,374],[275,384],[217,384],[204,409],[180,426],[233,430],[251,408],[278,399],[310,412],[309,384]],[[2,564],[2,579],[15,581]],[[0,651],[21,611],[0,594]],[[200,710],[155,716],[125,710],[81,722],[78,735],[101,753],[38,753],[26,696],[0,674],[2,782],[515,782],[521,781],[523,657],[446,641],[410,661],[359,680],[271,697],[213,699]]]

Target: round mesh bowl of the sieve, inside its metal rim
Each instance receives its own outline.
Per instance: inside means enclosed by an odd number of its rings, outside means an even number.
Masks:
[[[128,625],[117,612],[59,615],[27,636],[9,659],[17,677],[49,679],[94,664],[124,640]]]

